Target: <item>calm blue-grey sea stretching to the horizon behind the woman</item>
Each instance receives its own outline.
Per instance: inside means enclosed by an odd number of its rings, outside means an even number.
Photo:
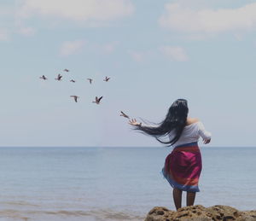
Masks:
[[[144,220],[175,210],[161,174],[172,148],[0,148],[0,220]],[[256,210],[256,148],[201,148],[195,205]],[[183,206],[185,206],[185,193]]]

